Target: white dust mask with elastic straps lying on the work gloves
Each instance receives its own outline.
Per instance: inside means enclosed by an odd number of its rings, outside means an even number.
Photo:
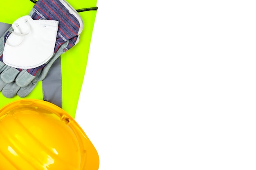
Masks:
[[[26,15],[13,22],[12,27],[4,45],[4,64],[15,68],[36,68],[51,59],[58,21],[33,20]]]

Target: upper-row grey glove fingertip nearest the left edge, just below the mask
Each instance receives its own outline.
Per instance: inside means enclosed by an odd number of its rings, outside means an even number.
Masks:
[[[17,75],[20,73],[22,69],[13,68],[10,66],[7,66],[4,71],[1,73],[1,78],[6,83],[14,82]]]

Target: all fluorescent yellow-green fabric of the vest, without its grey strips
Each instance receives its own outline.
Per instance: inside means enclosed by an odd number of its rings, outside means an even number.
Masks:
[[[96,7],[97,0],[67,0],[74,9]],[[0,22],[13,23],[17,18],[27,15],[34,6],[29,0],[12,0],[11,3],[2,2],[0,6]],[[81,86],[88,59],[92,29],[97,11],[84,11],[79,15],[83,18],[84,29],[79,43],[61,55],[62,70],[62,98],[63,110],[75,117]],[[72,72],[70,72],[72,70]],[[74,83],[75,82],[75,83]],[[27,97],[29,99],[43,100],[42,83],[38,82],[36,88]],[[20,99],[16,96],[8,99],[0,93],[0,108],[5,104]]]

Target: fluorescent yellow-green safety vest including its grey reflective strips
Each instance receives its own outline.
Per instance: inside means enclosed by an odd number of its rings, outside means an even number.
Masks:
[[[3,1],[0,5],[0,32],[7,29],[16,19],[28,15],[35,0]],[[97,0],[67,0],[81,15],[84,28],[79,43],[62,54],[49,70],[47,77],[38,82],[36,88],[25,98],[46,100],[63,108],[73,118],[79,100],[85,68],[88,59],[94,20],[97,13]],[[6,24],[7,23],[7,24]],[[52,81],[54,79],[54,81]],[[56,80],[56,81],[55,81]],[[15,100],[22,99],[16,95],[9,99],[0,92],[0,108]]]

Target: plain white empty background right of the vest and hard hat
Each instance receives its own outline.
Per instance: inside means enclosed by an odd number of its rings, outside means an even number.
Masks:
[[[76,120],[99,170],[255,170],[256,2],[97,6]]]

